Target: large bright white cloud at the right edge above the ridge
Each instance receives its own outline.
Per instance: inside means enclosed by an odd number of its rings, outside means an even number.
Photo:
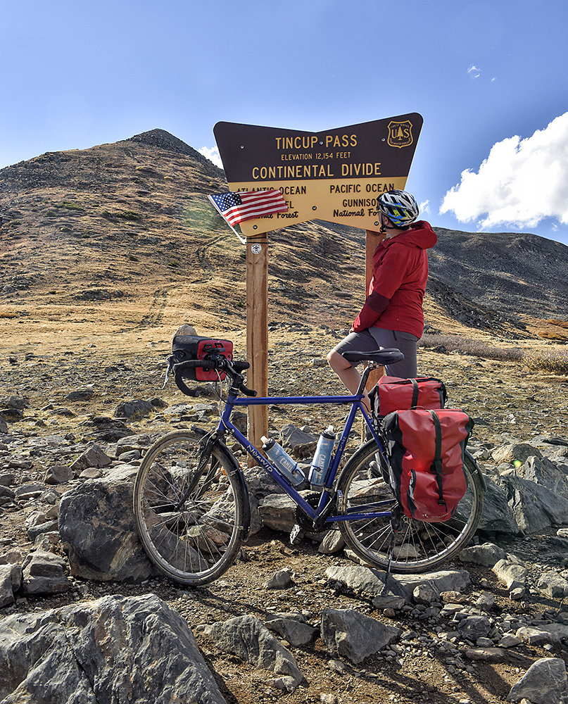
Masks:
[[[503,139],[491,148],[478,172],[462,171],[461,182],[444,196],[440,213],[480,227],[535,227],[544,218],[568,224],[568,113],[531,137]]]

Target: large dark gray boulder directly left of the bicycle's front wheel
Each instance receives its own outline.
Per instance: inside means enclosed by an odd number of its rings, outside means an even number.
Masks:
[[[59,533],[75,577],[141,582],[155,574],[132,513],[136,470],[130,465],[116,467],[61,497]]]

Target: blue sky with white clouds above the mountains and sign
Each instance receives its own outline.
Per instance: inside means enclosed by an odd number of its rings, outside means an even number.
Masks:
[[[424,117],[433,225],[568,244],[566,0],[0,0],[0,168],[155,127]]]

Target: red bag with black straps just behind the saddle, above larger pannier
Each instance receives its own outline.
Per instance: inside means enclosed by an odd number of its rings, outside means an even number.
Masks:
[[[443,408],[446,404],[446,386],[441,379],[417,377],[381,377],[369,392],[374,419],[380,420],[395,410],[409,408]]]

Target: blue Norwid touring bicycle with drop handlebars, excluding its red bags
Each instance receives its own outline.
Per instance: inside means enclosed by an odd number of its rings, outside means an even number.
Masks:
[[[244,472],[224,441],[233,438],[270,474],[298,506],[298,526],[305,531],[338,529],[347,546],[366,564],[414,573],[434,570],[473,536],[483,509],[483,480],[477,463],[465,453],[467,491],[455,515],[443,523],[406,517],[389,486],[389,458],[381,427],[373,425],[362,404],[372,368],[400,360],[398,350],[350,352],[353,363],[368,363],[354,396],[266,396],[244,385],[248,363],[220,354],[174,367],[177,386],[191,367],[226,375],[229,391],[217,428],[177,430],[156,441],[144,455],[134,484],[134,515],[144,549],[158,570],[184,585],[207,584],[232,565],[248,536],[251,509]],[[239,394],[244,396],[239,396]],[[253,404],[351,404],[339,444],[320,491],[301,491],[286,479],[231,422],[234,408]],[[340,470],[357,413],[371,439]],[[301,488],[300,488],[301,489]]]

